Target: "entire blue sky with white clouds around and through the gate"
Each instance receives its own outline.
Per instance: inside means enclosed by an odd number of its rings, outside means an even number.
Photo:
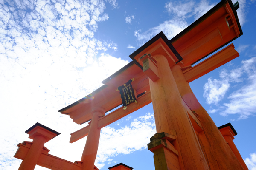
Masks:
[[[69,139],[86,125],[58,110],[99,88],[154,35],[171,39],[218,2],[0,0],[0,170],[17,170],[17,144],[30,140],[24,132],[36,122],[61,133],[45,144],[49,154],[81,160],[86,138]],[[256,1],[239,5],[240,56],[190,85],[217,126],[231,122],[241,156],[256,170]],[[147,149],[154,133],[151,104],[103,128],[96,166],[154,170]]]

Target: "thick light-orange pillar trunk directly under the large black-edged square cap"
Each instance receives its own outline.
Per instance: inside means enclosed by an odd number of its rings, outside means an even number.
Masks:
[[[182,170],[209,170],[168,61],[161,54],[153,57],[157,61],[159,79],[155,82],[149,79],[149,85],[157,133],[176,131]]]

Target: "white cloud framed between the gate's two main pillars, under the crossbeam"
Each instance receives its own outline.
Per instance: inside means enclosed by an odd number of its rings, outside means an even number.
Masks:
[[[121,129],[104,127],[101,130],[96,166],[101,168],[105,161],[119,154],[129,154],[147,148],[150,137],[156,133],[154,114],[147,113]],[[134,140],[136,139],[136,140]]]

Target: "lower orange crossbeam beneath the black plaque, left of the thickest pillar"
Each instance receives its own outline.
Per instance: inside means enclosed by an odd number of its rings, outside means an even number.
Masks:
[[[105,127],[105,126],[115,122],[116,120],[119,120],[122,117],[124,117],[134,111],[137,111],[138,109],[151,103],[150,91],[146,92],[143,96],[138,97],[136,100],[137,100],[137,104],[132,103],[131,105],[129,105],[127,107],[126,110],[123,110],[123,108],[121,107],[121,108],[116,109],[115,111],[109,113],[108,115],[101,117],[98,122],[98,128],[101,129],[102,127]],[[70,134],[71,135],[70,143],[76,142],[77,140],[87,136],[89,133],[89,130],[90,130],[90,125],[82,128],[74,133],[71,133]]]

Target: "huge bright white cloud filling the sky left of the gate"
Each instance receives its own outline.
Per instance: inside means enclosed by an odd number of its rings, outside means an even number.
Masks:
[[[112,3],[116,1],[112,0]],[[6,5],[8,4],[8,5]],[[99,88],[128,61],[106,53],[117,44],[94,38],[108,19],[98,1],[0,1],[0,170],[17,170],[13,158],[36,122],[61,133],[45,144],[50,154],[81,160],[85,139],[70,144],[76,125],[57,111]],[[99,54],[99,52],[101,54]],[[58,143],[58,144],[57,144]],[[63,150],[65,148],[65,150]],[[68,154],[67,154],[68,153]],[[35,170],[45,169],[37,166]]]

